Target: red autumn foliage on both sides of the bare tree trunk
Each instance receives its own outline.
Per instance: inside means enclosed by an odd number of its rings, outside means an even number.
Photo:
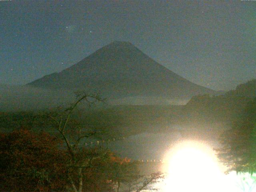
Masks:
[[[4,192],[64,192],[70,188],[68,172],[77,183],[76,169],[67,168],[70,156],[61,149],[63,141],[46,132],[15,130],[0,133],[0,191]],[[82,149],[76,160],[90,159],[84,168],[83,191],[113,192],[117,182],[134,173],[127,158],[99,149]]]

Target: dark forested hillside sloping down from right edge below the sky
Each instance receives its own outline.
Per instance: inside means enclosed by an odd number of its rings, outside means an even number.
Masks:
[[[193,96],[182,109],[186,122],[232,122],[240,118],[247,103],[256,96],[256,79],[240,84],[219,96]]]

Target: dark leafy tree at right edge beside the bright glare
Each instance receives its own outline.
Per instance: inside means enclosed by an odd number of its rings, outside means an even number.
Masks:
[[[228,172],[256,173],[256,98],[248,102],[241,119],[220,137],[218,158]]]

